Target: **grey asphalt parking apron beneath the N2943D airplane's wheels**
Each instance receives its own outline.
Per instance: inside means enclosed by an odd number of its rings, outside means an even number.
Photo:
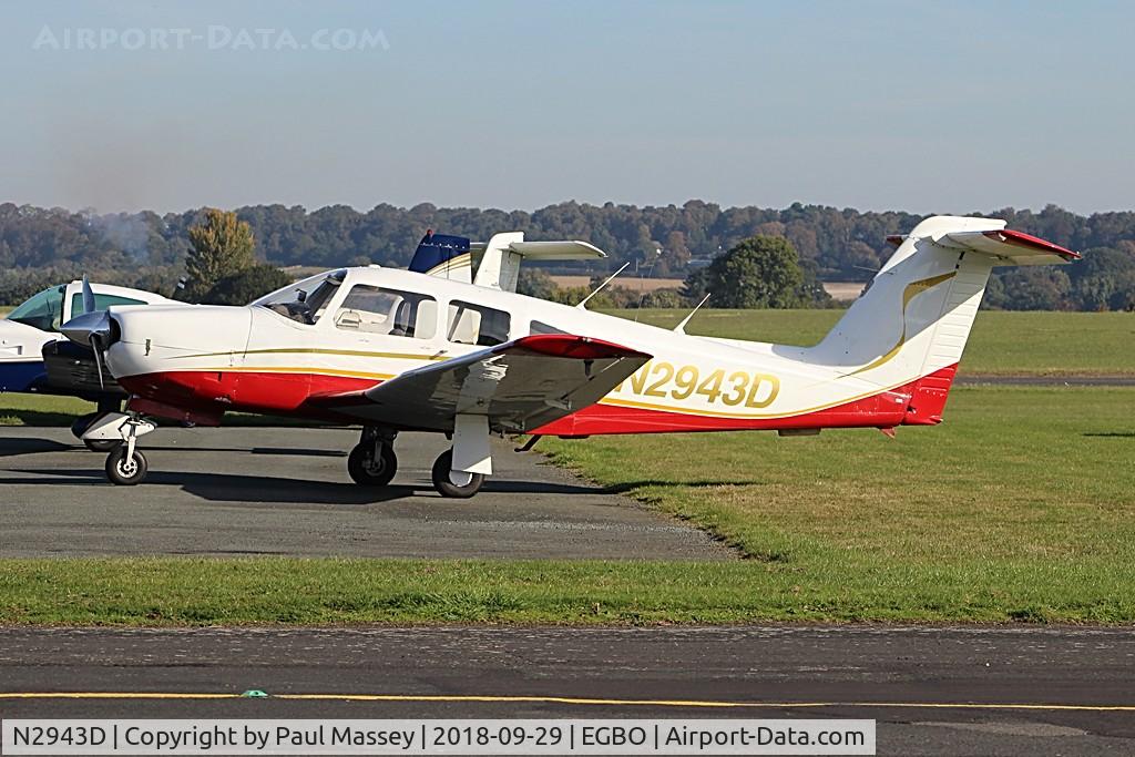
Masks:
[[[0,557],[342,555],[735,560],[704,532],[495,441],[496,474],[445,499],[430,466],[442,436],[398,437],[389,487],[351,481],[356,430],[161,428],[149,478],[115,487],[106,454],[66,430],[0,438]]]

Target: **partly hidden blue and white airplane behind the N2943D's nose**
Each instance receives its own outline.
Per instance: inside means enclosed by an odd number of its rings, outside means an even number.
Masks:
[[[161,295],[109,284],[90,285],[91,308],[169,303]],[[98,403],[100,412],[117,411],[126,398],[90,350],[68,342],[59,327],[84,312],[83,283],[53,286],[26,300],[0,320],[0,392],[66,394]],[[98,413],[78,419],[72,427],[81,437]],[[89,443],[103,451],[109,443]]]

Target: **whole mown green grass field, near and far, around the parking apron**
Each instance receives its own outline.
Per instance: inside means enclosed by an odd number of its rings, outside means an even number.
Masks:
[[[836,317],[696,322],[806,343]],[[984,354],[981,372],[1045,372],[1034,352],[1051,350],[1074,372],[1129,373],[1132,325],[982,313],[964,365]],[[52,424],[86,406],[0,395],[14,402],[0,415]],[[735,563],[0,560],[0,623],[1135,622],[1135,388],[960,387],[945,419],[897,439],[541,441],[556,463],[733,545],[748,557]]]

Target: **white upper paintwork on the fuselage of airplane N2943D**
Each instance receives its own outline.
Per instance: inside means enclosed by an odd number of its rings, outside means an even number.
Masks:
[[[358,284],[435,297],[439,323],[432,336],[426,339],[337,328],[333,314]],[[848,376],[847,367],[809,363],[807,348],[675,334],[515,293],[378,267],[346,269],[325,314],[313,325],[261,305],[112,309],[121,339],[110,347],[108,364],[118,378],[166,371],[258,371],[377,382],[430,361],[484,348],[445,339],[451,301],[508,312],[510,338],[528,335],[531,322],[539,321],[566,334],[654,355],[641,369],[642,376],[628,379],[605,397],[603,402],[611,404],[711,417],[771,418],[842,404],[918,378],[886,372],[869,378]]]

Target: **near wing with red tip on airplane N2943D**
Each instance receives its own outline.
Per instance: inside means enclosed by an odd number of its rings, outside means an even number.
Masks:
[[[363,421],[451,430],[461,414],[526,431],[592,405],[651,355],[603,339],[538,334],[407,371],[319,404]]]

